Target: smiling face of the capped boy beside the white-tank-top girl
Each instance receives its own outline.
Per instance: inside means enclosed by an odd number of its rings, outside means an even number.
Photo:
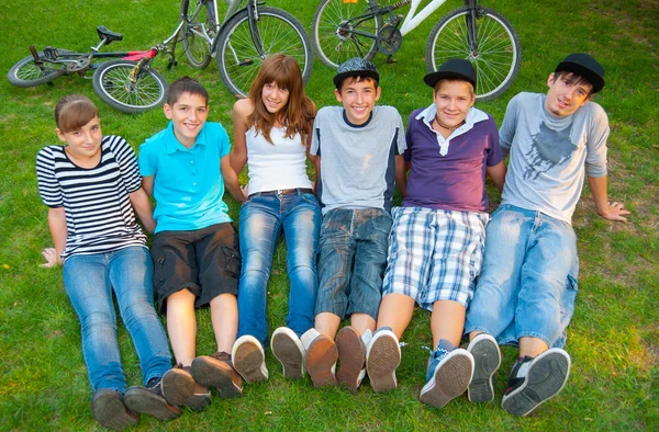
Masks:
[[[344,105],[348,122],[362,125],[368,122],[376,102],[380,99],[380,87],[373,79],[346,78],[339,90],[334,90],[336,100]]]

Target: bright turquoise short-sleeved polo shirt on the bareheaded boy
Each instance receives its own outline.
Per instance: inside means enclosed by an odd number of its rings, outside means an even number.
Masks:
[[[189,149],[174,135],[172,122],[139,146],[139,173],[155,175],[156,232],[231,221],[220,171],[220,160],[228,151],[228,136],[220,123],[206,123]]]

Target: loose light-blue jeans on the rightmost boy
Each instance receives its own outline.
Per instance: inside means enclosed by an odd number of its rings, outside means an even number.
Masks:
[[[572,226],[505,204],[492,215],[485,238],[465,332],[484,331],[499,343],[533,337],[565,346],[579,274]]]

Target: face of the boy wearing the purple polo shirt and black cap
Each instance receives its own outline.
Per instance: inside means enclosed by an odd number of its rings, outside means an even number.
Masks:
[[[465,121],[474,101],[476,94],[467,81],[443,80],[433,94],[437,121],[448,128],[457,127]]]

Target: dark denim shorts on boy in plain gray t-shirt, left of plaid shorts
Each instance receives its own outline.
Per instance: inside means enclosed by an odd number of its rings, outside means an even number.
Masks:
[[[382,208],[335,208],[323,217],[315,314],[378,319],[391,215]]]

